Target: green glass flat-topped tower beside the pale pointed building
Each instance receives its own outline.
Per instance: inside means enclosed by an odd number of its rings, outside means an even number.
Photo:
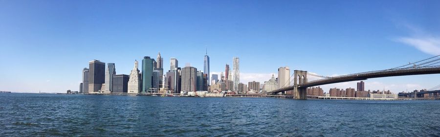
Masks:
[[[141,93],[149,92],[152,88],[153,79],[153,61],[150,57],[146,56],[142,59],[142,91]]]

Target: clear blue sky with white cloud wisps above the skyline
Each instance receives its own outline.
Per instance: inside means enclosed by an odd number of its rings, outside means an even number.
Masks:
[[[0,91],[77,91],[98,59],[130,74],[170,58],[211,74],[240,58],[241,82],[277,69],[338,76],[440,55],[439,0],[0,0]],[[291,72],[293,73],[293,71]],[[432,88],[440,75],[372,78],[366,89]],[[356,82],[323,85],[355,88]]]

